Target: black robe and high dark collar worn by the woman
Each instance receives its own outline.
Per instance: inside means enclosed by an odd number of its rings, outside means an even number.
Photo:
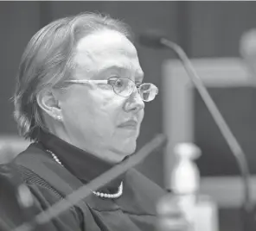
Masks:
[[[36,214],[112,167],[53,134],[42,136],[14,159],[22,181],[35,197]],[[65,167],[56,163],[46,150],[55,153]],[[120,181],[124,184],[121,197],[110,199],[92,194],[41,227],[42,230],[156,230],[156,203],[164,191],[135,169],[99,191],[111,193],[118,189]]]

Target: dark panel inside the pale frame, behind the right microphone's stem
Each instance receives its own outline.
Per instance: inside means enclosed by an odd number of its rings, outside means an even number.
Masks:
[[[246,154],[249,169],[256,174],[256,91],[255,87],[208,88]],[[226,140],[197,91],[195,97],[195,144],[202,149],[197,159],[202,176],[234,176],[240,170]]]

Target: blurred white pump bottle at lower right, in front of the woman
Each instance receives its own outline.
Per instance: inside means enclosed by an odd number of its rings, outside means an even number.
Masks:
[[[218,231],[216,204],[208,196],[199,195],[200,172],[194,160],[201,150],[193,143],[179,143],[174,148],[176,165],[171,174],[171,190],[179,196],[179,206],[193,231]]]

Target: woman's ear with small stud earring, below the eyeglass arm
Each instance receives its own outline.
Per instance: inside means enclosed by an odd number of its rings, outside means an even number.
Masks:
[[[52,118],[61,121],[61,107],[58,98],[51,90],[40,91],[36,96],[39,107]]]

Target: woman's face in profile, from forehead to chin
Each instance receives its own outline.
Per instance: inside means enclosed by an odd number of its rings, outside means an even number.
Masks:
[[[112,30],[82,38],[74,62],[74,79],[117,77],[141,83],[144,77],[136,48],[123,34]],[[63,126],[75,146],[112,162],[135,151],[144,117],[138,91],[120,97],[108,84],[70,84],[60,103]]]

